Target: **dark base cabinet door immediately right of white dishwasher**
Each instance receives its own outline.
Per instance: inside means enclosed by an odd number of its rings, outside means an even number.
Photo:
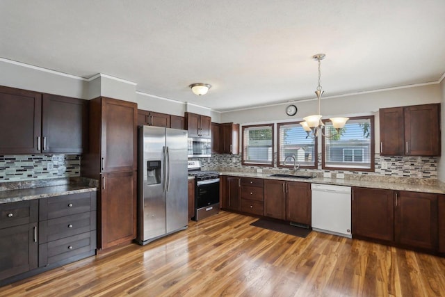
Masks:
[[[353,188],[353,235],[394,241],[394,191]]]

